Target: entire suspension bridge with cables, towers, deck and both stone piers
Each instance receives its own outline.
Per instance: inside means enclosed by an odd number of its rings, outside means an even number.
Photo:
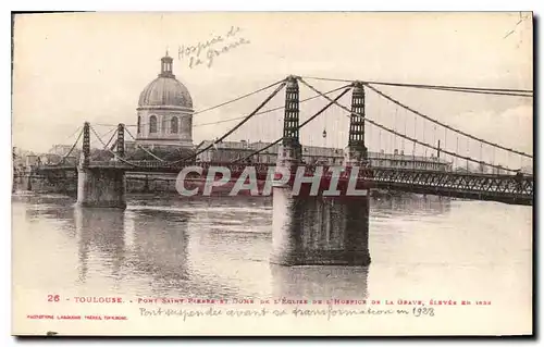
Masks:
[[[233,122],[234,125],[209,145],[197,148],[190,153],[180,154],[175,159],[161,158],[157,151],[139,144],[124,124],[118,124],[110,129],[113,134],[106,141],[102,139],[104,135],[100,136],[96,129],[99,125],[86,122],[70,151],[60,162],[38,164],[33,171],[53,176],[67,171],[75,172],[77,203],[81,207],[124,209],[127,173],[177,173],[184,168],[198,165],[203,174],[211,166],[228,166],[233,175],[239,175],[248,166],[252,166],[260,178],[269,175],[270,168],[274,173],[282,168],[294,172],[290,169],[304,166],[305,174],[306,172],[311,174],[319,163],[305,162],[307,158],[305,146],[308,148],[308,145],[302,145],[301,138],[308,138],[306,142],[309,141],[310,146],[318,141],[327,141],[326,125],[323,125],[322,134],[311,125],[332,121],[336,125],[334,127],[336,136],[333,138],[339,140],[344,136],[344,140],[347,141],[342,165],[345,172],[356,173],[356,186],[361,188],[363,194],[348,198],[343,195],[325,197],[322,194],[324,188],[320,186],[318,195],[306,196],[294,194],[292,181],[274,185],[270,261],[281,265],[368,265],[371,261],[368,247],[370,211],[368,191],[372,188],[532,206],[533,175],[521,171],[527,164],[532,166],[531,153],[484,139],[440,121],[417,107],[401,102],[384,91],[384,88],[390,86],[518,99],[532,98],[531,90],[329,79],[343,85],[323,92],[313,82],[321,79],[326,78],[288,76],[251,94],[195,112],[198,114],[222,109],[272,89],[268,97],[247,115],[208,124],[195,124],[195,127],[222,122]],[[300,86],[313,95],[301,99]],[[282,104],[273,107],[272,100],[277,100],[274,98],[284,88],[285,97],[280,100]],[[344,97],[350,98],[350,104],[347,106],[343,100]],[[302,107],[311,100],[319,100],[322,104],[317,110],[308,112]],[[378,102],[393,106],[393,113],[390,111],[383,114],[384,112],[373,109]],[[283,116],[274,117],[272,116],[274,112]],[[268,114],[265,120],[262,117],[263,114]],[[139,134],[141,124],[138,122],[136,126],[136,132]],[[154,126],[148,128],[156,129]],[[270,136],[274,134],[276,137],[271,138]],[[92,157],[91,135],[98,139],[102,151],[108,154],[106,158]],[[126,150],[125,135],[134,139],[133,144],[140,151],[147,153],[148,160],[138,160]],[[227,162],[198,160],[201,158],[200,154],[236,136],[245,139],[258,136],[259,139],[267,139],[269,142],[268,145],[262,142],[263,146],[254,150],[246,150],[243,156],[237,156]],[[76,149],[79,140],[82,140],[79,160],[69,164],[66,159]],[[384,165],[381,160],[371,160],[369,145],[378,148],[379,152],[384,149],[391,152],[392,149],[401,147],[404,153],[406,147],[408,150],[411,147],[413,163],[417,156],[422,154],[431,162],[438,158],[449,161],[452,166],[447,166],[450,170],[445,170],[444,166],[422,169],[416,164],[406,165],[406,161],[391,161]],[[274,162],[263,163],[256,160],[260,154],[269,153],[274,146],[277,146]],[[474,164],[478,165],[478,170],[469,170]],[[334,163],[331,166],[334,166]],[[326,174],[327,169],[323,170],[325,174],[322,179],[333,178]],[[339,175],[336,178],[338,186],[345,188],[347,176]]]

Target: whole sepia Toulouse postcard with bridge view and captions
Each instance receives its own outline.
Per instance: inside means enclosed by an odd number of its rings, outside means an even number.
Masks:
[[[13,23],[13,335],[533,334],[532,13]]]

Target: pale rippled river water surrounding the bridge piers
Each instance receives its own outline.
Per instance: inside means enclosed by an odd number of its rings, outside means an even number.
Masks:
[[[531,322],[531,207],[373,199],[370,267],[283,268],[268,262],[268,198],[131,196],[126,211],[74,202],[13,195],[15,309],[51,294],[455,299],[492,301],[495,313],[487,319],[508,312],[497,329]]]

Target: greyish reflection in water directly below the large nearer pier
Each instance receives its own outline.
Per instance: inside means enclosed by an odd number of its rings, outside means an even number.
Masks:
[[[323,300],[368,297],[368,267],[270,268],[274,298]]]

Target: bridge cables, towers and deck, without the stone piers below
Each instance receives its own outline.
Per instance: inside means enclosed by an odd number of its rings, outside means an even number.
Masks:
[[[437,195],[437,196],[448,196],[465,199],[474,200],[492,200],[514,205],[532,205],[533,200],[533,176],[532,174],[522,173],[520,171],[522,163],[532,164],[532,154],[526,153],[514,148],[507,148],[500,144],[496,144],[484,138],[474,136],[467,131],[456,128],[448,125],[442,121],[438,121],[430,115],[426,115],[413,107],[407,106],[398,99],[394,98],[390,94],[381,90],[382,86],[396,86],[405,88],[417,88],[417,89],[430,89],[430,90],[441,90],[450,92],[466,92],[466,94],[477,94],[477,95],[493,95],[503,97],[518,97],[518,98],[532,98],[532,91],[530,90],[518,90],[518,89],[482,89],[482,88],[471,88],[471,87],[448,87],[448,86],[424,86],[424,85],[404,85],[404,84],[391,84],[391,83],[380,83],[380,82],[361,82],[361,80],[343,80],[343,79],[332,79],[333,82],[339,82],[345,85],[334,88],[329,91],[319,90],[309,79],[326,79],[329,78],[316,78],[316,77],[299,77],[289,76],[286,79],[276,82],[268,87],[261,88],[254,92],[247,94],[240,98],[223,102],[217,107],[208,108],[202,111],[196,112],[195,114],[207,112],[214,109],[220,109],[232,102],[242,100],[243,98],[250,97],[258,92],[265,91],[268,89],[273,89],[268,97],[259,103],[259,106],[254,109],[249,114],[245,116],[237,116],[228,120],[222,120],[219,122],[203,123],[203,125],[214,125],[223,122],[236,122],[227,132],[218,136],[215,140],[211,141],[208,146],[205,146],[197,151],[187,154],[185,157],[175,160],[161,159],[154,154],[151,150],[145,146],[139,145],[136,141],[136,137],[129,131],[129,126],[124,124],[119,124],[116,127],[112,127],[108,133],[112,133],[108,141],[103,140],[99,135],[95,126],[89,123],[85,123],[83,129],[79,129],[77,139],[71,147],[71,150],[63,157],[63,159],[55,164],[39,164],[35,168],[35,172],[38,174],[51,175],[54,173],[63,171],[76,172],[77,168],[85,169],[87,171],[102,171],[115,174],[124,175],[126,172],[139,172],[139,173],[178,173],[181,170],[187,166],[201,166],[203,174],[210,166],[226,166],[233,173],[233,176],[239,175],[247,166],[254,166],[257,172],[259,179],[264,179],[267,175],[270,174],[269,168],[276,166],[282,162],[284,165],[284,160],[280,156],[277,162],[262,163],[256,162],[254,159],[260,153],[265,153],[272,146],[281,145],[283,148],[283,154],[285,156],[285,148],[289,158],[289,164],[301,164],[304,157],[302,145],[300,141],[300,135],[307,129],[308,124],[318,123],[320,119],[326,119],[329,121],[336,122],[336,132],[341,135],[345,134],[342,129],[338,129],[338,124],[341,122],[345,124],[347,131],[347,159],[344,162],[344,166],[357,166],[359,168],[358,179],[363,183],[367,188],[379,188],[387,190],[399,190],[416,194],[425,195]],[[308,90],[312,91],[314,95],[306,98],[304,100],[299,99],[299,85],[306,86]],[[287,88],[285,94],[285,99],[282,106],[269,108],[263,110],[267,104],[271,103],[271,100],[279,95],[283,89]],[[289,90],[290,88],[290,90]],[[349,97],[351,91],[351,104],[347,107],[343,101],[343,97]],[[396,109],[394,111],[394,116],[388,115],[390,124],[385,124],[384,121],[380,122],[376,117],[369,113],[368,108],[368,95],[373,94],[373,97],[381,99],[382,101],[388,102]],[[300,116],[300,106],[309,100],[321,99],[324,104],[317,112],[312,112],[311,115],[306,115],[305,120]],[[330,112],[331,109],[335,108],[334,112]],[[399,110],[404,113],[399,114]],[[283,117],[277,117],[276,120],[269,121],[269,123],[276,124],[276,121],[281,121],[283,124],[281,134],[274,140],[268,142],[267,146],[261,146],[259,149],[246,152],[245,156],[238,157],[231,160],[230,162],[206,162],[198,161],[199,154],[213,150],[215,146],[222,144],[223,141],[235,137],[237,132],[246,128],[249,129],[251,134],[258,134],[255,132],[255,127],[248,126],[251,122],[257,123],[267,127],[268,124],[262,119],[262,114],[270,114],[272,112],[280,111],[283,113]],[[327,113],[329,112],[329,113]],[[281,114],[280,113],[280,114]],[[376,112],[378,113],[378,112]],[[410,119],[411,116],[411,119]],[[385,119],[385,117],[384,117]],[[411,120],[413,124],[408,122]],[[420,120],[418,124],[418,120]],[[346,122],[347,121],[347,122]],[[264,124],[264,125],[262,125]],[[325,124],[325,123],[323,123]],[[408,126],[408,124],[410,126]],[[100,124],[103,126],[103,124]],[[138,124],[138,132],[140,124]],[[195,126],[199,126],[196,124]],[[342,125],[341,125],[342,126]],[[431,128],[426,131],[425,128]],[[421,131],[422,129],[422,131]],[[312,129],[311,135],[316,135],[316,131]],[[429,134],[431,133],[431,135]],[[401,165],[380,165],[371,164],[368,158],[368,148],[366,140],[370,137],[375,137],[378,134],[379,148],[387,147],[388,142],[393,147],[399,147],[396,142],[401,144],[403,152],[404,149],[411,148],[412,154],[416,157],[416,152],[419,149],[424,157],[430,160],[449,158],[452,163],[456,163],[453,170],[435,169],[420,169],[416,165],[408,166],[406,164]],[[440,135],[437,135],[440,134]],[[108,153],[108,159],[91,160],[91,147],[90,139],[91,135],[98,140],[102,150]],[[321,135],[321,134],[318,134]],[[418,137],[418,135],[420,135]],[[448,136],[449,135],[449,136]],[[136,147],[148,154],[151,160],[134,160],[131,154],[125,150],[125,137],[128,136],[134,140]],[[323,131],[323,137],[326,136],[326,131]],[[262,137],[262,134],[261,134]],[[431,139],[430,139],[431,137]],[[449,141],[448,141],[449,137]],[[83,140],[82,140],[83,139]],[[460,141],[466,140],[465,148],[460,148]],[[76,149],[77,145],[82,140],[82,158],[78,164],[65,163],[65,158],[69,158],[73,150]],[[316,141],[316,140],[314,140]],[[385,142],[385,144],[384,144]],[[441,146],[442,142],[442,146]],[[472,146],[469,144],[472,142]],[[409,144],[407,146],[407,144]],[[448,146],[449,145],[449,146]],[[485,158],[483,148],[491,149],[486,150],[485,153],[490,158]],[[293,149],[295,152],[293,152]],[[495,161],[496,152],[502,152],[503,157],[509,159],[507,164],[516,162],[516,158],[519,159],[519,164],[517,168],[509,168],[505,164],[499,164]],[[474,152],[474,153],[471,153]],[[431,157],[429,157],[429,153]],[[434,156],[436,153],[436,156]],[[512,160],[514,157],[514,160]],[[307,172],[314,172],[316,164],[302,163],[307,166]],[[478,170],[469,171],[470,165],[478,165]],[[466,169],[465,169],[466,168]],[[462,169],[462,170],[460,170]],[[330,179],[327,177],[327,168],[324,168],[324,179]],[[108,179],[107,179],[108,181]],[[341,179],[342,181],[342,179]],[[115,186],[123,191],[123,187]],[[83,191],[82,189],[79,189]],[[99,190],[103,190],[100,188]],[[84,193],[82,193],[84,194]],[[124,193],[112,193],[114,196],[121,194],[123,195],[120,199],[114,199],[115,201],[124,200]],[[95,195],[92,195],[95,196]],[[98,196],[103,196],[99,194]],[[107,195],[108,196],[108,195]],[[106,196],[106,197],[107,197]],[[100,205],[100,201],[97,202]],[[114,202],[113,205],[115,205]],[[124,202],[121,202],[123,205]],[[110,206],[111,202],[106,202],[106,206]]]

